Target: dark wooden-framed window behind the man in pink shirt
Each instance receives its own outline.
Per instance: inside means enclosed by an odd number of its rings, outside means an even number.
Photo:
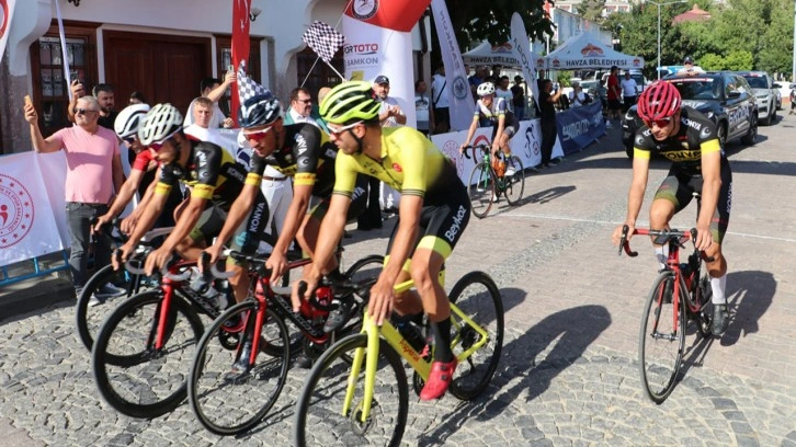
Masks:
[[[96,83],[95,26],[65,26],[66,57],[71,79],[80,79],[87,89]],[[47,137],[69,125],[69,87],[64,76],[64,51],[58,26],[31,45],[33,104],[39,114],[42,134]]]

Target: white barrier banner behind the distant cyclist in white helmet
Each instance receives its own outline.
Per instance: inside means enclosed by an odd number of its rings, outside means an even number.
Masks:
[[[479,127],[476,129],[476,134],[473,137],[473,146],[476,145],[489,145],[491,146],[492,128],[491,127]],[[451,131],[447,134],[432,135],[431,140],[436,145],[437,148],[453,161],[456,162],[456,171],[458,172],[459,179],[467,184],[469,182],[470,173],[476,161],[465,158],[458,153],[458,148],[462,141],[467,138],[467,130]],[[531,168],[542,162],[542,152],[539,147],[542,146],[542,125],[539,119],[531,119],[520,122],[520,128],[518,129],[514,137],[509,141],[511,152],[514,156],[520,157],[522,160],[523,168]],[[473,151],[468,153],[471,156]],[[564,157],[564,150],[561,149],[561,141],[556,137],[556,145],[553,147],[553,158]]]

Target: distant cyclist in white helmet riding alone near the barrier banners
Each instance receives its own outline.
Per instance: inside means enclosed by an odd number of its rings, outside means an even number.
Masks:
[[[498,151],[502,150],[508,158],[511,154],[509,141],[514,136],[520,123],[514,114],[509,110],[509,104],[503,98],[494,98],[494,84],[484,82],[478,85],[476,93],[480,98],[476,102],[476,113],[473,115],[473,123],[467,130],[467,138],[459,148],[459,152],[464,152],[464,148],[470,144],[476,128],[492,126],[492,157],[498,156]],[[509,167],[505,175],[513,175],[512,167]]]

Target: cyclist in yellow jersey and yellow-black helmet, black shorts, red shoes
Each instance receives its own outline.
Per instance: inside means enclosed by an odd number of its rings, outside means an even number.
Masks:
[[[308,285],[304,297],[294,287],[293,307],[315,290],[334,245],[343,233],[357,173],[375,176],[401,193],[398,222],[390,238],[388,256],[371,289],[368,312],[377,324],[393,311],[408,316],[424,311],[435,339],[432,371],[420,398],[437,399],[447,390],[456,358],[451,352],[451,306],[439,282],[440,271],[469,219],[467,190],[456,168],[428,138],[410,127],[382,128],[379,103],[371,84],[342,83],[320,104],[332,142],[340,152],[334,165],[334,191],[323,218],[310,267],[304,270]],[[411,257],[411,264],[408,260]],[[414,282],[419,294],[396,296],[394,287]]]

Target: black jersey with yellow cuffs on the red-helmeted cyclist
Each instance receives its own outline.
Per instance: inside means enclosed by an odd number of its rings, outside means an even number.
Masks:
[[[716,125],[700,112],[683,106],[680,112],[680,130],[663,141],[658,141],[647,126],[636,131],[634,157],[649,159],[659,153],[671,160],[672,169],[685,174],[702,171],[702,154],[721,151]],[[724,159],[724,151],[721,152]]]

